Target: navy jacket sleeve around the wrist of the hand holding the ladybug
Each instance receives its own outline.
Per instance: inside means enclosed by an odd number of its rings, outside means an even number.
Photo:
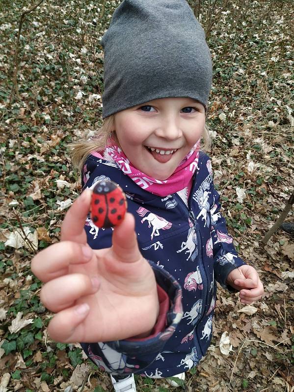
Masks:
[[[165,270],[149,261],[158,286],[168,295],[170,306],[166,313],[165,328],[145,339],[127,339],[113,342],[81,343],[87,356],[99,368],[112,374],[141,373],[162,351],[183,316],[182,290],[179,283]]]

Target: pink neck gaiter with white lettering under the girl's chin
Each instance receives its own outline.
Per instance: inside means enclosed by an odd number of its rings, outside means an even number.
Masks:
[[[127,174],[139,187],[154,195],[167,196],[189,185],[198,166],[199,142],[190,150],[177,169],[163,181],[150,177],[134,168],[120,147],[110,145],[106,147],[106,151],[122,172]]]

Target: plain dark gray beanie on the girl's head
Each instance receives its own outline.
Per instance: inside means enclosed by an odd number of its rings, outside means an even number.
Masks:
[[[124,0],[102,39],[103,117],[152,99],[189,97],[207,108],[212,61],[186,0]]]

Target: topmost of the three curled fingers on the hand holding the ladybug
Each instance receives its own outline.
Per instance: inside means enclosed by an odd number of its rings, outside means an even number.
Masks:
[[[49,282],[68,272],[71,264],[87,263],[93,256],[89,245],[63,241],[42,250],[32,259],[31,270],[42,282]]]

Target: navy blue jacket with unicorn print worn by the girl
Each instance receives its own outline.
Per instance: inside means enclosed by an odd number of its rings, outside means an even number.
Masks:
[[[245,263],[221,216],[211,161],[200,152],[188,207],[177,194],[166,197],[145,191],[114,162],[90,155],[82,173],[83,188],[102,179],[121,186],[142,255],[150,262],[157,283],[168,294],[170,310],[165,331],[141,342],[81,343],[100,368],[113,374],[129,372],[170,377],[196,366],[212,338],[216,283],[226,287],[232,270]],[[93,249],[111,246],[112,229],[85,225]]]

